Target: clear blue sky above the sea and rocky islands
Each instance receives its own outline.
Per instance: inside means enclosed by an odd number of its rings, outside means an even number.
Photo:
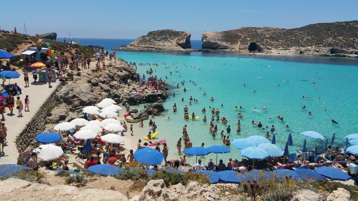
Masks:
[[[0,0],[1,29],[58,37],[130,38],[148,31],[176,29],[201,39],[204,31],[242,26],[296,28],[307,24],[358,19],[358,0]]]

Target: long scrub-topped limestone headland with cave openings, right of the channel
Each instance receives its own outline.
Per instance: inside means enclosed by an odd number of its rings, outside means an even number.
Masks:
[[[310,24],[294,29],[242,27],[205,32],[202,48],[242,53],[250,49],[281,54],[358,55],[358,21]]]

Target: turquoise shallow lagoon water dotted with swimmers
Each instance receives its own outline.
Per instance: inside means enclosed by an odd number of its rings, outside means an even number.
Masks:
[[[153,68],[158,78],[162,78],[170,84],[169,97],[165,100],[166,111],[162,116],[156,116],[153,121],[158,125],[160,132],[158,139],[166,139],[169,146],[168,159],[178,157],[176,141],[182,137],[182,128],[187,124],[187,131],[193,146],[205,147],[215,144],[222,145],[220,132],[231,125],[232,132],[229,139],[246,138],[252,135],[264,136],[267,130],[262,130],[251,121],[258,121],[263,126],[274,125],[276,131],[276,144],[284,148],[289,132],[292,133],[294,146],[290,146],[290,153],[301,149],[304,131],[316,131],[328,138],[329,142],[333,132],[335,142],[333,146],[343,147],[344,136],[358,132],[358,62],[356,59],[337,59],[320,57],[290,57],[290,56],[243,56],[235,54],[214,53],[135,53],[118,52],[117,57],[127,62],[158,63],[153,65],[137,66],[137,72],[141,75],[149,68]],[[173,62],[177,62],[174,63]],[[165,63],[165,64],[164,64]],[[266,65],[266,67],[265,67]],[[190,66],[195,66],[191,68]],[[167,68],[165,68],[167,67]],[[200,69],[200,70],[199,70]],[[309,70],[308,70],[309,69]],[[179,70],[179,73],[175,73]],[[173,75],[169,72],[172,71]],[[179,75],[181,77],[179,77]],[[146,74],[146,78],[150,75]],[[168,76],[166,79],[165,76]],[[312,81],[312,79],[314,81]],[[185,85],[180,82],[185,80]],[[189,80],[197,84],[189,83]],[[289,81],[286,83],[285,81]],[[315,83],[313,83],[315,82]],[[179,88],[176,84],[179,83]],[[243,85],[246,85],[244,87]],[[280,87],[278,85],[280,84]],[[187,92],[182,89],[186,87]],[[199,87],[202,90],[199,90]],[[317,89],[317,90],[316,90]],[[253,91],[256,90],[256,93]],[[203,95],[203,92],[207,95]],[[175,93],[175,97],[173,97]],[[302,98],[309,95],[310,98]],[[198,103],[192,101],[189,105],[189,97],[198,99]],[[214,97],[214,101],[209,98]],[[320,97],[320,99],[318,98]],[[181,99],[184,98],[184,102]],[[176,103],[178,112],[173,112],[173,104]],[[324,103],[324,104],[323,104]],[[188,105],[189,114],[192,112],[200,119],[184,119],[183,107]],[[220,105],[223,104],[223,107]],[[246,109],[234,109],[233,106],[243,106]],[[305,105],[306,109],[302,109]],[[220,118],[225,116],[227,124],[214,122],[218,126],[216,137],[209,133],[211,109],[219,108]],[[267,109],[261,109],[266,106]],[[205,107],[206,113],[201,110]],[[257,111],[252,108],[256,107]],[[326,109],[326,111],[324,110]],[[238,121],[237,114],[241,112],[241,132],[236,133]],[[309,116],[308,112],[312,115]],[[207,116],[204,123],[202,118]],[[284,117],[284,121],[276,118]],[[170,117],[170,120],[166,118]],[[273,117],[273,119],[268,119]],[[334,119],[339,124],[332,124]],[[289,124],[290,129],[284,128]],[[140,129],[140,128],[135,128]],[[147,121],[145,128],[140,129],[142,136],[148,132]],[[272,139],[272,132],[270,132]],[[136,136],[142,139],[142,136]],[[307,138],[308,148],[319,147],[321,152],[325,141]],[[182,144],[184,144],[182,142]],[[224,161],[229,157],[241,160],[240,151],[230,147],[231,153],[219,155]],[[202,156],[204,164],[209,158],[216,158],[216,154]],[[194,163],[195,157],[187,157],[190,163]]]

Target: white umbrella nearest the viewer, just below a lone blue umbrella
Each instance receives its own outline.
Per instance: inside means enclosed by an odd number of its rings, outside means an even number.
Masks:
[[[34,149],[34,152],[37,153],[37,158],[43,161],[55,160],[63,155],[61,147],[53,144],[40,145],[38,148]]]

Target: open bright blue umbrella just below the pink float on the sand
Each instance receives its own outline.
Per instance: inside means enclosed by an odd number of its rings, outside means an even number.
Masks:
[[[144,147],[134,152],[134,158],[139,163],[158,165],[163,162],[163,154],[156,149]]]

